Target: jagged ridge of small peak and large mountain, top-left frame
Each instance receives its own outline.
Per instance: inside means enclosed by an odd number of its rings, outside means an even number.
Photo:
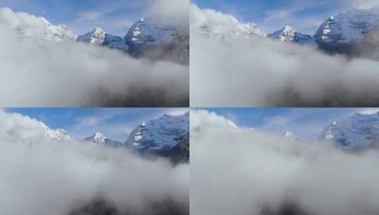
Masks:
[[[101,28],[95,28],[79,36],[77,42],[123,50],[133,57],[169,59],[189,64],[188,28],[155,23],[149,18],[141,18],[134,23],[123,38],[108,34]]]

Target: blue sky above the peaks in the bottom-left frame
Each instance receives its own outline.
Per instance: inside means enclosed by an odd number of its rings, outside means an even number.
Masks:
[[[75,139],[101,132],[110,139],[125,141],[142,122],[163,114],[178,115],[186,108],[7,108],[7,112],[28,115],[51,129],[65,129]]]

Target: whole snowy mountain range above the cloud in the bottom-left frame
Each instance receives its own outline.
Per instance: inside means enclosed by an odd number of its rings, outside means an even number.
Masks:
[[[35,127],[14,127],[26,143],[33,146],[40,140],[74,141],[64,129],[50,129],[43,122],[33,121]],[[9,137],[8,137],[9,138]],[[125,141],[115,141],[100,132],[79,140],[82,144],[98,144],[111,148],[130,149],[148,157],[165,157],[173,163],[189,162],[189,112],[184,115],[162,115],[138,125]]]

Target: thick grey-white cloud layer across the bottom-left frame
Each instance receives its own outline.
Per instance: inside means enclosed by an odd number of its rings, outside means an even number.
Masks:
[[[188,214],[189,165],[54,141],[44,129],[0,112],[0,214]]]

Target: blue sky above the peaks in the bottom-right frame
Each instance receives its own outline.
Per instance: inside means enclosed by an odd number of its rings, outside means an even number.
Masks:
[[[379,108],[208,108],[240,127],[282,135],[293,132],[302,139],[315,140],[322,129],[356,112],[374,113]]]

